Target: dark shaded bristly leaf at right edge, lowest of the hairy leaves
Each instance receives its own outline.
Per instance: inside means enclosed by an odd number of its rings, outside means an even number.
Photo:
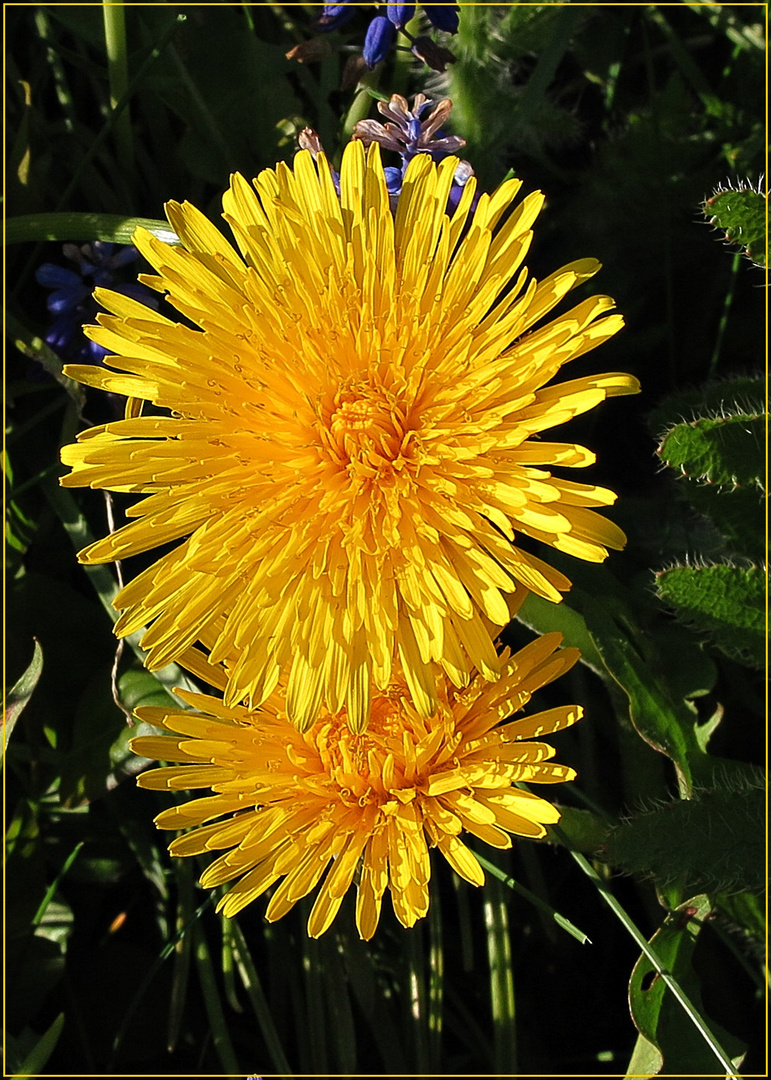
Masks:
[[[766,883],[765,784],[745,767],[745,782],[699,791],[636,814],[612,829],[604,858],[658,885],[703,892],[750,890]]]

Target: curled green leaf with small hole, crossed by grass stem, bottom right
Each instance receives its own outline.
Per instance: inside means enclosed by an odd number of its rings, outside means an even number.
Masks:
[[[696,895],[667,915],[650,941],[664,970],[677,980],[693,1004],[704,1015],[699,980],[693,969],[693,953],[712,904],[706,895]],[[638,1040],[627,1076],[714,1076],[715,1054],[696,1027],[688,1020],[665,980],[644,954],[630,978],[632,1018],[642,1041]],[[712,1036],[739,1067],[746,1048],[739,1039],[708,1021]]]

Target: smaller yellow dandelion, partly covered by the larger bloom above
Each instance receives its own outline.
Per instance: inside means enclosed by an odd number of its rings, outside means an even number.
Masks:
[[[174,738],[141,735],[132,750],[181,764],[144,772],[138,783],[161,791],[213,788],[214,795],[164,810],[155,823],[193,826],[172,842],[172,854],[224,850],[201,883],[239,879],[218,904],[226,915],[283,878],[266,913],[280,919],[327,872],[308,922],[317,937],[359,872],[362,937],[375,933],[387,887],[400,922],[411,927],[429,908],[430,848],[438,848],[466,881],[482,885],[483,869],[461,833],[510,848],[510,833],[542,837],[544,825],[559,820],[551,802],[513,785],[573,779],[572,769],[549,760],[552,746],[532,740],[573,724],[580,707],[500,723],[576,662],[578,649],[555,652],[559,639],[547,634],[513,657],[504,651],[497,683],[477,676],[457,690],[442,678],[436,712],[428,718],[395,679],[375,694],[369,726],[359,734],[344,712],[324,710],[298,731],[280,691],[251,712],[178,690],[198,712],[137,710],[139,719]]]

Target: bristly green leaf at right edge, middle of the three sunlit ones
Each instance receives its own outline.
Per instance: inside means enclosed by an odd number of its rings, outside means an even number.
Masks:
[[[672,428],[657,453],[685,476],[707,484],[762,490],[766,426],[767,417],[762,414],[701,417]]]

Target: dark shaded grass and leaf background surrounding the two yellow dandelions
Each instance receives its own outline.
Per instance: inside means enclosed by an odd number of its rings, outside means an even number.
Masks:
[[[107,36],[99,4],[5,9],[8,1070],[725,1075],[634,923],[723,1062],[762,1072],[766,5],[462,4],[433,31],[445,71],[409,49],[363,70],[356,8],[323,37],[317,4],[116,5]],[[431,32],[420,11],[409,29]],[[321,58],[287,58],[314,39]],[[117,405],[60,376],[36,271],[123,239],[103,215],[188,199],[218,220],[230,172],[290,161],[306,125],[339,159],[377,95],[417,92],[452,99],[483,189],[512,170],[546,193],[537,276],[604,264],[593,291],[627,325],[570,375],[642,393],[566,437],[597,451],[628,545],[560,565],[566,602],[506,632],[559,629],[586,660],[536,703],[586,711],[555,739],[579,777],[551,842],[491,853],[481,890],[437,860],[422,924],[384,913],[365,944],[347,902],[315,942],[302,903],[216,917],[152,825],[171,796],[133,782],[125,713],[179,673],[116,657],[113,568],[75,559],[108,508],[58,488],[58,447]]]

